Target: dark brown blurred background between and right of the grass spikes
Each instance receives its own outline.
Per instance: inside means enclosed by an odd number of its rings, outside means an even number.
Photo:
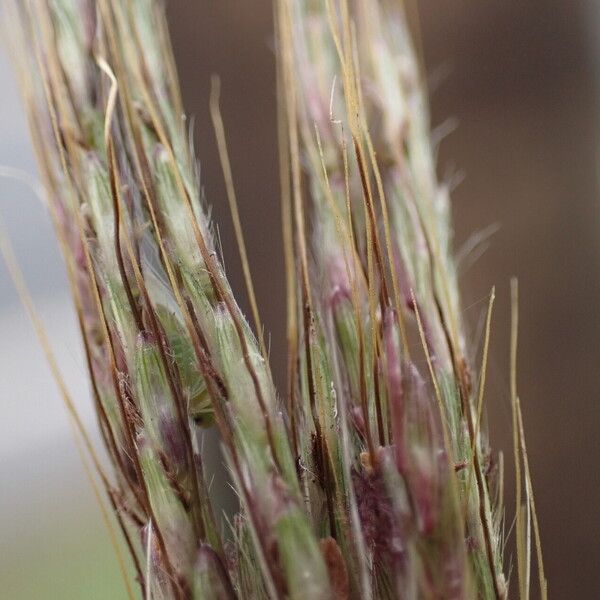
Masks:
[[[519,388],[552,598],[598,597],[600,568],[600,219],[597,86],[600,8],[590,0],[422,0],[432,126],[453,193],[456,247],[497,223],[489,251],[462,278],[475,331],[496,285],[488,406],[511,465],[509,279],[521,292]],[[208,118],[209,78],[222,107],[240,211],[275,370],[283,373],[274,58],[268,0],[171,2],[184,100],[230,277],[243,280]],[[598,38],[598,41],[597,39]],[[507,498],[512,494],[508,482]],[[507,529],[513,508],[507,501]]]

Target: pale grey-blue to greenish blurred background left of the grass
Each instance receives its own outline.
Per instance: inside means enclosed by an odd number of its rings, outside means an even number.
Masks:
[[[0,54],[0,169],[37,179],[11,66]],[[49,215],[0,178],[0,214],[84,422],[95,421],[62,260]],[[0,261],[0,597],[125,598],[62,400]]]

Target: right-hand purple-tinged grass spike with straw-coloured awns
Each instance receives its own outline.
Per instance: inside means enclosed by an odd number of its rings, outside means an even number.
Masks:
[[[326,485],[337,487],[337,496],[349,497],[352,482],[363,482],[356,492],[362,532],[344,532],[349,546],[364,536],[367,555],[354,548],[366,563],[362,570],[372,574],[363,594],[433,589],[468,595],[476,586],[503,596],[487,482],[479,472],[476,486],[470,468],[458,481],[453,474],[454,464],[471,463],[471,447],[481,471],[482,449],[478,441],[470,443],[477,433],[470,435],[467,427],[473,398],[448,250],[447,198],[435,180],[416,61],[402,23],[388,3],[360,3],[352,13],[343,2],[282,3],[288,118],[295,121],[291,156],[305,166],[316,222],[313,255],[322,279],[317,289],[325,294],[309,299],[314,314],[300,355],[306,356],[307,379],[316,382],[323,379],[319,356],[336,363],[335,408],[353,417],[355,431],[346,434],[351,441],[342,459],[350,461],[350,480],[341,468],[336,473],[335,440],[325,438],[320,452],[323,478],[329,471]],[[296,202],[302,202],[298,190]],[[297,219],[298,237],[306,236],[304,228]],[[407,323],[416,321],[417,312],[425,352],[434,358],[441,414],[433,390],[409,392],[410,381],[420,380],[407,338]],[[317,365],[312,372],[309,363]],[[327,414],[327,393],[317,388],[311,398],[310,387],[308,382],[305,406],[318,403]],[[424,390],[424,383],[416,388]],[[449,429],[445,436],[443,427]],[[387,447],[394,449],[394,467]],[[305,452],[310,460],[311,447]],[[396,519],[405,523],[399,534],[404,548],[395,557],[378,551],[372,519],[365,523],[373,507],[362,508],[361,495],[374,493],[373,485],[379,500],[371,503],[381,509],[393,500]],[[419,578],[423,570],[433,582]]]

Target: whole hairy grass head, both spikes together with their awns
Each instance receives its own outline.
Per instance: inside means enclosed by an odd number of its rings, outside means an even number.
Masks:
[[[388,0],[275,9],[281,400],[201,202],[162,3],[9,3],[114,467],[101,479],[142,594],[505,598],[498,475],[482,430],[493,292],[477,368],[403,12]],[[217,88],[211,111],[260,329]],[[526,597],[530,513],[539,533],[511,387]],[[229,540],[202,464],[213,426],[240,500]]]

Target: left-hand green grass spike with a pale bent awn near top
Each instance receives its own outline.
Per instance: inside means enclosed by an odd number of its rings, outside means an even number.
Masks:
[[[203,581],[233,585],[199,452],[213,420],[266,588],[294,568],[273,565],[274,544],[325,573],[268,365],[200,204],[159,3],[15,4],[13,16],[17,43],[33,40],[19,47],[22,84],[144,593],[187,597],[198,562]],[[263,493],[273,481],[282,498]],[[280,540],[287,522],[298,536]]]

